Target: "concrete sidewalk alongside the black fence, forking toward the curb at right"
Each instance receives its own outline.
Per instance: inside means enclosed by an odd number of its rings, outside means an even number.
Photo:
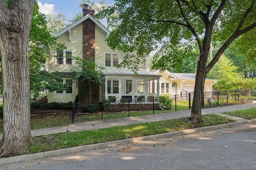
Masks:
[[[235,121],[245,121],[247,119],[225,115],[223,114],[223,112],[249,109],[253,107],[256,107],[256,102],[235,105],[235,106],[223,106],[223,107],[202,109],[202,114],[217,114],[217,115],[228,117],[230,119],[234,119]],[[154,115],[126,117],[126,118],[120,118],[120,119],[88,121],[88,122],[74,123],[74,124],[60,126],[60,127],[50,127],[45,129],[32,130],[31,133],[32,133],[32,136],[35,137],[35,136],[41,136],[41,135],[50,135],[54,133],[93,130],[93,129],[99,129],[99,128],[105,128],[105,127],[131,125],[136,123],[146,123],[146,122],[161,121],[161,120],[168,120],[168,119],[177,119],[181,117],[189,117],[190,113],[191,113],[191,110],[184,110],[184,111],[175,111],[170,113],[160,113],[160,114],[154,114]]]

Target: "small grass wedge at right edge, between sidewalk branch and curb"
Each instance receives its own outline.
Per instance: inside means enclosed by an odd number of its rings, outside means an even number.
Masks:
[[[232,115],[236,117],[242,117],[244,119],[256,119],[256,108],[237,110],[237,111],[228,111],[228,112],[224,112],[224,114]]]

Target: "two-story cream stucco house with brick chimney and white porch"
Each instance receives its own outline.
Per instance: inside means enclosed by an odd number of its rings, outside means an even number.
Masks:
[[[88,97],[79,94],[79,88],[86,84],[76,84],[72,81],[70,68],[76,65],[72,57],[80,55],[83,59],[92,57],[96,64],[101,64],[106,69],[98,70],[104,78],[101,86],[95,86],[92,102],[101,101],[103,98],[120,100],[121,98],[136,99],[159,96],[159,92],[154,89],[161,77],[160,74],[150,72],[150,59],[146,56],[145,61],[140,63],[138,74],[126,68],[118,69],[122,62],[124,53],[112,50],[106,44],[106,38],[110,31],[106,29],[98,20],[94,18],[95,10],[88,6],[83,8],[83,17],[68,25],[66,28],[55,33],[58,43],[64,43],[67,49],[55,51],[55,57],[48,62],[49,72],[59,71],[64,74],[60,83],[68,84],[69,89],[65,91],[55,91],[48,94],[48,102],[69,102],[74,101],[78,95],[78,102],[88,102]],[[82,52],[82,54],[81,54]],[[154,82],[154,83],[153,83]],[[159,83],[158,83],[159,84]]]

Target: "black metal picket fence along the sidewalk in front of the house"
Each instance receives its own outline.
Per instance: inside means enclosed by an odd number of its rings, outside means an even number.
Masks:
[[[230,106],[252,102],[253,90],[204,92],[203,108]],[[72,122],[117,119],[140,115],[168,113],[191,109],[194,92],[173,96],[121,99],[113,102],[78,103],[72,105]]]

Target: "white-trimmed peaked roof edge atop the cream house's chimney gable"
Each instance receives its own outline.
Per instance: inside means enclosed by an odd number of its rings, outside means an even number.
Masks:
[[[59,37],[60,35],[67,33],[68,30],[72,30],[74,28],[76,28],[78,25],[82,24],[83,21],[87,20],[87,19],[91,19],[94,23],[95,23],[95,27],[98,28],[102,33],[104,33],[105,35],[109,34],[110,31],[104,27],[104,25],[102,25],[102,23],[100,23],[100,21],[96,20],[93,16],[91,16],[90,14],[87,14],[86,16],[83,16],[82,18],[80,18],[79,20],[71,23],[70,25],[68,25],[67,27],[63,28],[62,30],[58,31],[57,33],[55,33],[54,37]]]

